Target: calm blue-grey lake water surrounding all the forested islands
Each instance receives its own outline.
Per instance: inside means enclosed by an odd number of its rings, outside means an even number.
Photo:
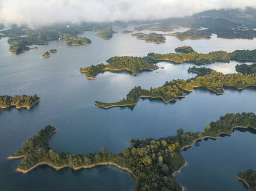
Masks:
[[[119,33],[107,41],[90,32],[82,34],[92,40],[88,46],[65,47],[65,42],[52,41],[48,46],[37,45],[37,50],[19,55],[9,51],[7,38],[0,40],[0,94],[37,94],[42,98],[30,110],[0,110],[1,190],[135,188],[132,176],[115,167],[77,172],[68,168],[55,171],[50,167],[39,167],[26,175],[15,172],[20,161],[9,161],[6,157],[49,124],[58,129],[51,138],[51,145],[57,151],[86,154],[105,147],[109,152],[119,153],[129,146],[129,138],[157,139],[174,135],[179,128],[198,132],[227,112],[256,113],[255,88],[243,91],[226,89],[224,95],[197,89],[188,97],[169,104],[159,100],[140,100],[133,109],[96,107],[94,101],[118,101],[134,86],[149,89],[161,86],[167,80],[193,77],[195,74],[186,71],[193,64],[161,62],[158,65],[164,69],[142,72],[138,76],[127,72],[104,72],[97,76],[97,80],[85,79],[85,74],[78,72],[81,66],[105,63],[115,55],[145,56],[148,52],[174,52],[176,47],[184,44],[191,45],[198,52],[210,52],[254,49],[256,43],[256,40],[227,40],[216,36],[210,40],[179,41],[170,36],[166,43],[154,44],[122,34],[120,29],[115,30]],[[51,48],[56,48],[57,53],[50,58],[42,58],[43,52]],[[236,64],[234,61],[218,62],[207,67],[234,73]],[[193,146],[184,151],[182,154],[189,165],[177,176],[177,181],[188,190],[247,190],[235,175],[245,168],[256,168],[253,162],[256,155],[252,152],[254,136],[250,132],[236,132],[234,136],[202,142],[199,147]]]

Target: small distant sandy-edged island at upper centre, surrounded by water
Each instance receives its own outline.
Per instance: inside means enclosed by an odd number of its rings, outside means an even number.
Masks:
[[[145,40],[146,43],[161,44],[161,43],[165,43],[165,40],[166,40],[162,34],[157,34],[157,33],[150,33],[150,34],[135,33],[131,35],[133,37],[136,37],[137,39]]]

